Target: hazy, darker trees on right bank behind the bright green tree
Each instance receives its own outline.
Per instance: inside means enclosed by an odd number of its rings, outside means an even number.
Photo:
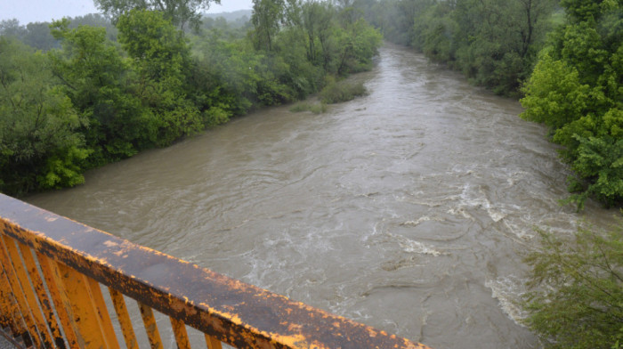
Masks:
[[[555,0],[360,0],[387,40],[411,45],[478,85],[516,95],[551,25]]]

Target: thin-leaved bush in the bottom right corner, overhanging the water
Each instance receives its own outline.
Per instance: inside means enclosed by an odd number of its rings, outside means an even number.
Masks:
[[[605,234],[579,230],[571,239],[541,231],[524,306],[526,323],[547,348],[623,345],[623,225]]]

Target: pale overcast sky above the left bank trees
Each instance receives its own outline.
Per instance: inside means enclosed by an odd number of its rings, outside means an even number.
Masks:
[[[212,4],[208,12],[232,12],[252,7],[252,0],[221,0],[221,3]],[[22,25],[94,12],[98,11],[93,0],[0,0],[0,20],[16,18]]]

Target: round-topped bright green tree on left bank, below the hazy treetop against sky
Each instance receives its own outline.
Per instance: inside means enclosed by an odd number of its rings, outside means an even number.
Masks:
[[[190,49],[182,32],[162,12],[132,10],[118,22],[118,40],[133,59],[134,94],[155,120],[155,142],[168,145],[204,124],[188,97]]]

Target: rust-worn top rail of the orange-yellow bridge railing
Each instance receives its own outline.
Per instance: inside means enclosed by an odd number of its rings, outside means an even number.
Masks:
[[[145,312],[150,312],[151,307],[165,312],[178,321],[178,327],[183,319],[189,321],[189,326],[223,342],[258,349],[426,348],[105,231],[42,212],[0,194],[0,215],[7,215],[0,218],[0,228],[5,234],[33,248],[37,254],[50,256],[137,299],[145,309],[149,308]],[[35,226],[36,231],[28,230],[27,226]],[[160,266],[167,272],[158,274]],[[158,329],[155,322],[148,322],[145,327],[151,332],[150,344],[158,347],[158,340],[153,338]],[[181,331],[182,328],[176,337],[182,336]]]

